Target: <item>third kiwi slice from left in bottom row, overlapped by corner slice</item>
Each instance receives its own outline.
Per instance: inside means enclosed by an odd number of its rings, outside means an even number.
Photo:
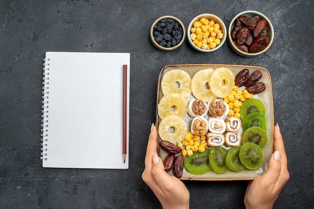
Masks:
[[[226,156],[226,164],[230,170],[234,172],[240,172],[244,170],[246,167],[241,163],[239,152],[240,146],[234,146],[229,149],[228,154]]]

